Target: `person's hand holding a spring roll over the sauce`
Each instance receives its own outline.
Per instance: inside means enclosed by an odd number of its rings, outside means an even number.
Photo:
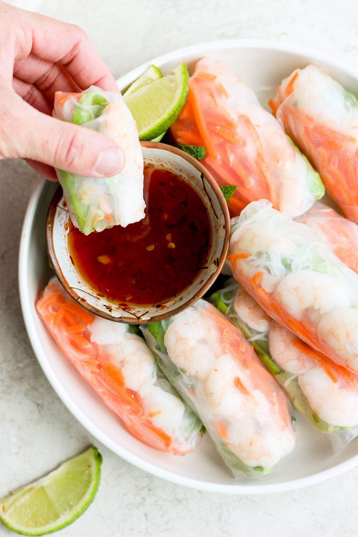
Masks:
[[[56,179],[53,168],[108,177],[125,162],[113,140],[52,117],[56,91],[90,85],[119,91],[79,27],[0,1],[0,159],[24,158]]]

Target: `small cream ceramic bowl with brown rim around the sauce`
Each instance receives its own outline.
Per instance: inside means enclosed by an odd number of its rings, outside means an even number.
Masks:
[[[129,304],[130,312],[108,302],[106,297],[97,295],[93,289],[89,288],[71,261],[67,246],[69,214],[61,187],[58,188],[50,203],[46,221],[48,256],[57,278],[66,291],[92,313],[112,321],[130,324],[163,321],[200,299],[220,274],[228,252],[230,237],[227,203],[215,180],[200,162],[184,151],[164,143],[142,142],[141,144],[145,164],[154,164],[183,177],[199,194],[209,216],[211,240],[206,266],[180,295],[164,301],[160,309],[154,306]]]

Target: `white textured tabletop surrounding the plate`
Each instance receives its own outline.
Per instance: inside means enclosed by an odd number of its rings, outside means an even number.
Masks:
[[[358,67],[356,0],[45,0],[39,11],[85,28],[116,78],[164,52],[228,38],[300,43]],[[35,178],[21,161],[0,162],[0,497],[95,442],[98,495],[61,537],[358,535],[358,469],[296,492],[216,495],[145,474],[76,422],[42,374],[19,306],[18,244]]]

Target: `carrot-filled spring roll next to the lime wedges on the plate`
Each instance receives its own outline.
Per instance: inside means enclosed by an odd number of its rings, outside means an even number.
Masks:
[[[212,58],[196,64],[171,133],[177,144],[205,146],[201,163],[218,184],[236,186],[232,215],[265,198],[294,218],[324,194],[318,173],[279,122],[235,72]]]

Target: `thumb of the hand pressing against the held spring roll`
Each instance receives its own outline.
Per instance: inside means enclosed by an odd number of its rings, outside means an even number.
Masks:
[[[123,150],[103,134],[42,114],[16,94],[7,105],[0,107],[0,158],[28,158],[89,177],[123,168]]]

